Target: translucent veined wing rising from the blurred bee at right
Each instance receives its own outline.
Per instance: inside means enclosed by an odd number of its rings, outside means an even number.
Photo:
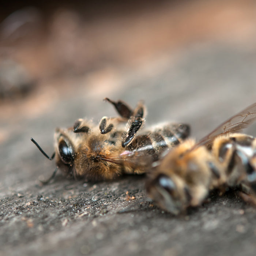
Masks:
[[[212,141],[219,135],[227,134],[230,132],[239,132],[248,127],[256,119],[256,103],[230,117],[227,121],[219,125],[211,133],[206,135],[198,142],[195,147],[206,145],[209,146]]]

